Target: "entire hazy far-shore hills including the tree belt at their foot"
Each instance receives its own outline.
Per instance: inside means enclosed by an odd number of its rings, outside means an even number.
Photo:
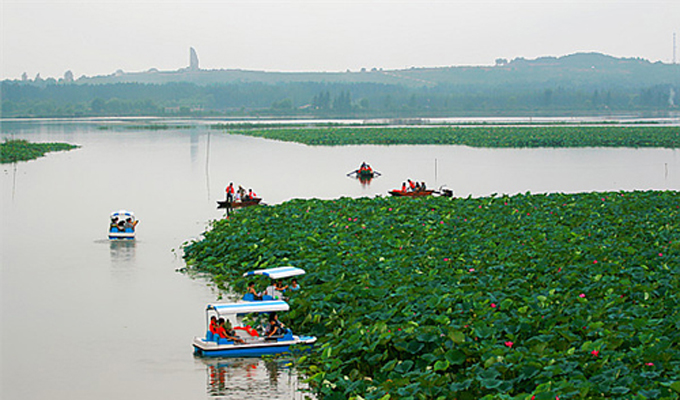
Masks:
[[[676,115],[680,65],[578,53],[493,66],[265,72],[149,70],[3,81],[2,116]]]

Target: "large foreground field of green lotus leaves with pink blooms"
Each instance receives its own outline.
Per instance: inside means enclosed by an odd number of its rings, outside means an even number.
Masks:
[[[307,271],[282,319],[323,399],[679,398],[676,191],[292,200],[184,252],[240,293]]]

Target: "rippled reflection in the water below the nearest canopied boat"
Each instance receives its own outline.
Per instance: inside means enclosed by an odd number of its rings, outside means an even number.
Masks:
[[[220,358],[199,360],[206,368],[206,392],[211,397],[313,398],[305,392],[289,360],[260,358]]]

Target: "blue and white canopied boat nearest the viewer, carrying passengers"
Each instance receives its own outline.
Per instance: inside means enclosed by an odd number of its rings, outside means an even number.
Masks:
[[[284,328],[282,335],[266,338],[264,329],[257,328],[263,315],[289,309],[288,303],[282,300],[208,304],[205,311],[206,334],[205,337],[194,338],[194,354],[204,357],[259,357],[288,353],[293,345],[313,345],[316,342],[314,336],[294,335],[290,329]],[[243,343],[223,339],[210,332],[208,325],[212,316],[229,320]]]

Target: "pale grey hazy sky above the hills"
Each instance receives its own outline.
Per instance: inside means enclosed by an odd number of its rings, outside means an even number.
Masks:
[[[601,52],[671,62],[680,0],[0,0],[1,78],[344,71]],[[680,49],[678,49],[680,53]],[[680,58],[680,54],[678,54]]]

